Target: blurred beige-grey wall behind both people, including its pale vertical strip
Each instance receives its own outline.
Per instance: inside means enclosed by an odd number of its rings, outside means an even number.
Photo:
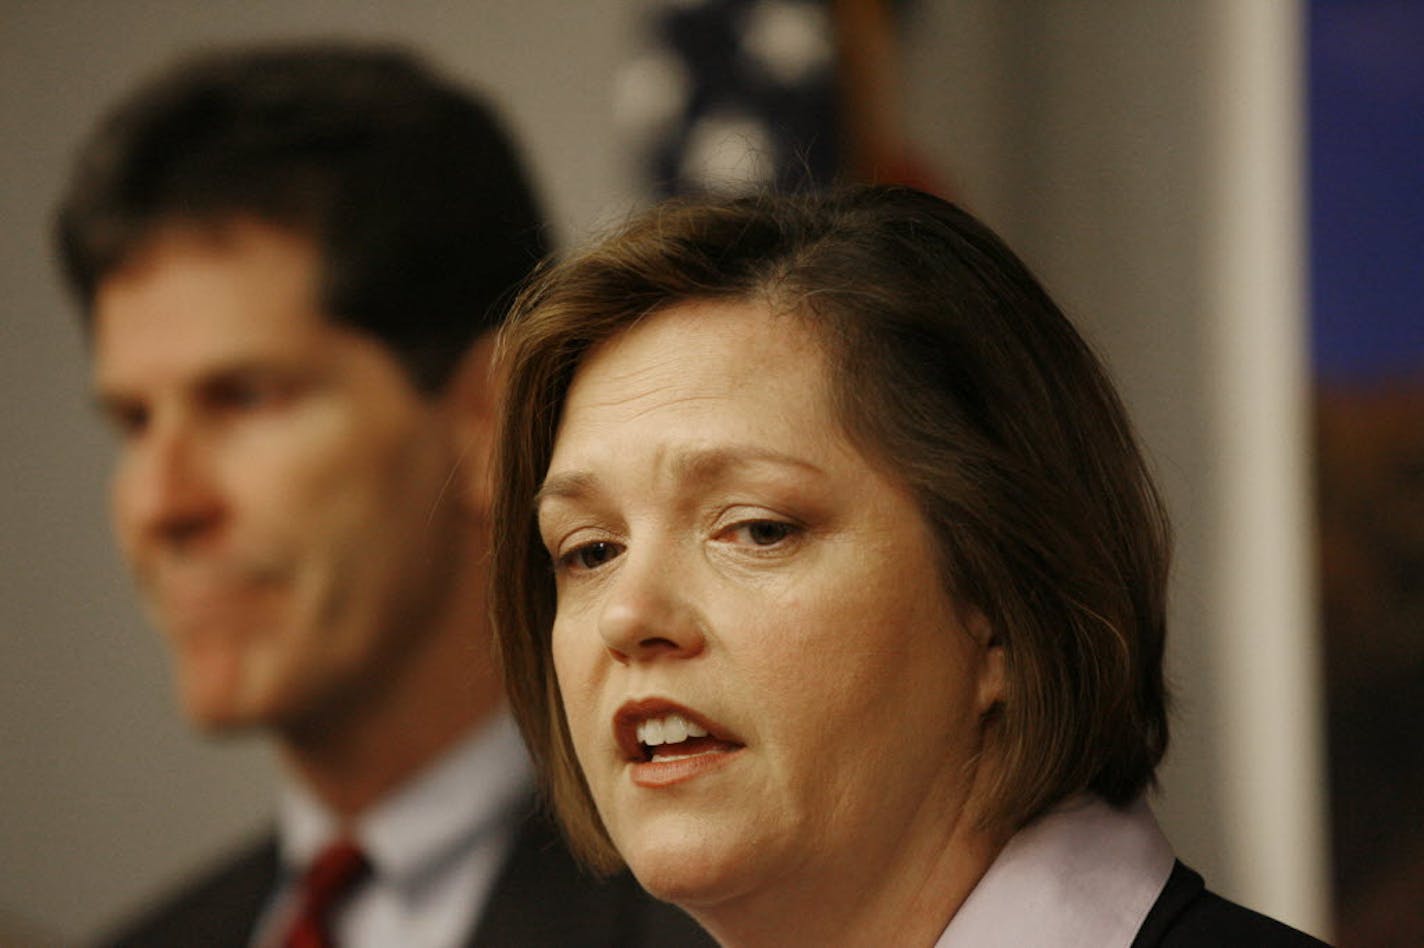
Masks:
[[[77,939],[268,818],[259,743],[191,737],[105,521],[110,444],[48,253],[71,149],[197,44],[414,46],[491,93],[562,241],[642,199],[612,124],[634,0],[0,3],[0,928]],[[921,0],[926,165],[1108,357],[1178,527],[1158,810],[1213,888],[1330,931],[1296,3]]]

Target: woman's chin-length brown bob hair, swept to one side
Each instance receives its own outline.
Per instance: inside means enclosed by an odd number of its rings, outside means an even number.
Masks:
[[[621,864],[554,676],[535,494],[582,360],[688,300],[803,320],[846,437],[909,487],[946,591],[1002,645],[980,820],[1012,831],[1079,791],[1142,793],[1168,737],[1169,528],[1102,366],[1034,276],[968,214],[907,188],[672,202],[543,269],[501,337],[491,602],[514,715],[575,853]]]

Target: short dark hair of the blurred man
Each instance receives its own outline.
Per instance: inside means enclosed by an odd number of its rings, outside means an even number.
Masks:
[[[140,88],[80,151],[57,241],[85,325],[98,285],[157,233],[244,216],[309,236],[328,316],[382,340],[426,391],[548,251],[490,108],[414,56],[224,50]]]

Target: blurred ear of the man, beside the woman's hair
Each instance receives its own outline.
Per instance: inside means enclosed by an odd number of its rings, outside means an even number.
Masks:
[[[478,521],[488,518],[493,502],[490,461],[500,396],[494,374],[494,333],[484,333],[474,340],[441,396],[457,453],[451,488],[466,511]]]

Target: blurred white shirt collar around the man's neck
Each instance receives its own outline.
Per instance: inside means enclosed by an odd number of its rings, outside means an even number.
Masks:
[[[531,780],[518,729],[501,713],[363,813],[353,836],[379,877],[417,885],[444,858],[497,830]],[[289,870],[308,865],[337,828],[336,814],[303,784],[282,784],[278,834]]]

